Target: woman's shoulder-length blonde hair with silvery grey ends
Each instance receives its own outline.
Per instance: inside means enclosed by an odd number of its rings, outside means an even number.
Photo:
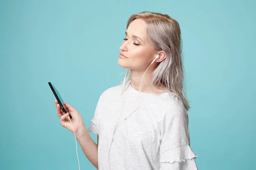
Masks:
[[[189,102],[186,98],[186,88],[183,87],[184,71],[182,62],[182,41],[179,23],[167,14],[143,11],[129,17],[127,26],[133,20],[141,19],[147,24],[147,34],[156,50],[163,50],[167,57],[152,73],[152,82],[160,84],[169,93],[175,94],[189,111]],[[121,82],[124,86],[131,79],[131,70],[127,70],[125,79]],[[125,81],[125,82],[124,82]],[[123,87],[124,88],[124,87]]]

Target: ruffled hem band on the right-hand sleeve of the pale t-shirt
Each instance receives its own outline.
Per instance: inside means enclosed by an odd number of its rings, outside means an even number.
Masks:
[[[190,145],[185,144],[160,154],[160,162],[172,164],[174,162],[185,162],[188,159],[195,159],[197,157],[190,148]]]

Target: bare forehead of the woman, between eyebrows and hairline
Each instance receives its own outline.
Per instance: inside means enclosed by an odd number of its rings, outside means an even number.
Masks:
[[[127,33],[129,35],[136,35],[140,37],[143,41],[147,40],[147,25],[144,20],[136,19],[130,23],[127,28]]]

